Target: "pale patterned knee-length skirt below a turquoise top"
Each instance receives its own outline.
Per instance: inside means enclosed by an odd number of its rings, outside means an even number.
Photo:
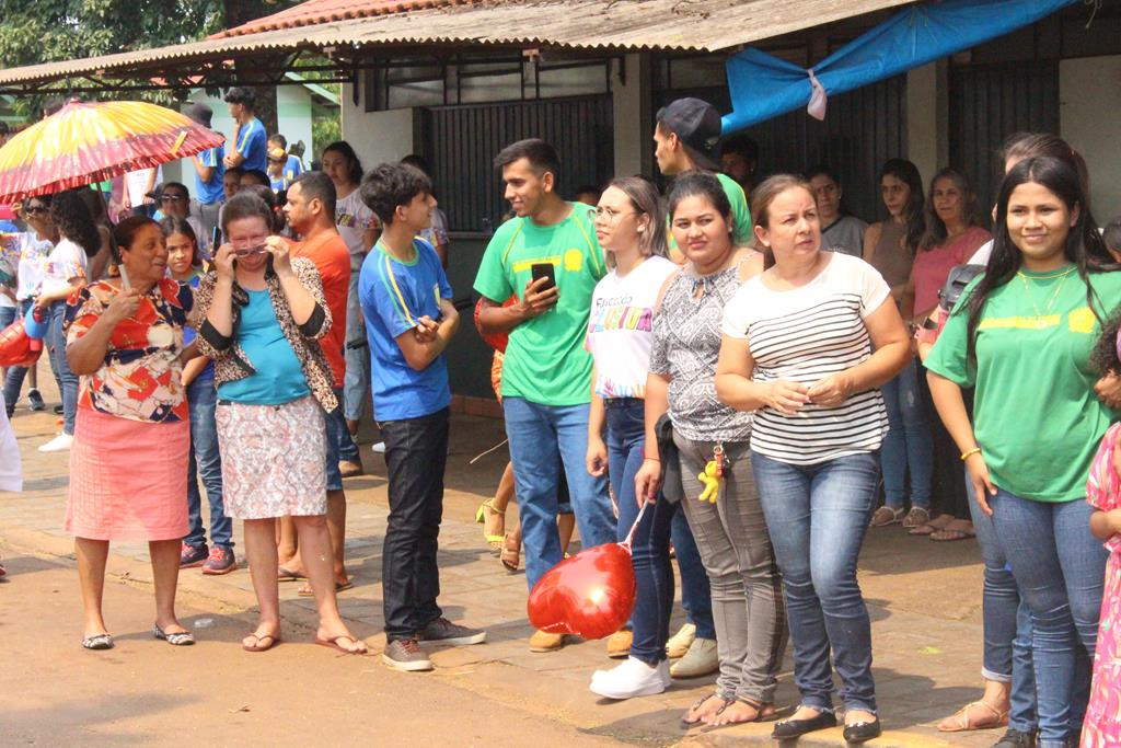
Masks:
[[[219,400],[215,416],[228,517],[326,514],[326,434],[314,397],[284,405]]]

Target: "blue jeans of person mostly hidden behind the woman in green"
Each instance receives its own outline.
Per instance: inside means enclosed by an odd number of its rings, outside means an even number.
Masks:
[[[1008,556],[997,538],[992,517],[973,499],[973,483],[965,471],[973,528],[984,562],[981,595],[984,650],[981,675],[989,681],[1010,683],[1011,708],[1008,726],[1020,732],[1036,730],[1036,676],[1031,672],[1031,613],[1020,599]]]

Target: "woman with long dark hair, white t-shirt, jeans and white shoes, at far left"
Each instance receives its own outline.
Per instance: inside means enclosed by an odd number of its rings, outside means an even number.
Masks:
[[[86,284],[90,258],[101,250],[101,234],[76,191],[61,192],[50,198],[50,218],[58,229],[59,240],[47,257],[39,295],[35,306],[50,318],[47,329],[47,353],[50,369],[63,397],[63,432],[39,447],[39,452],[64,452],[74,442],[74,418],[77,414],[77,376],[66,361],[66,299]]]

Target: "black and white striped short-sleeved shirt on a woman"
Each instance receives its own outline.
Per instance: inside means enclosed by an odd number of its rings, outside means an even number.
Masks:
[[[863,260],[832,253],[805,286],[771,290],[761,276],[736,292],[724,310],[725,335],[749,342],[753,379],[814,385],[872,354],[864,317],[890,289]],[[771,408],[754,414],[751,449],[791,464],[816,464],[880,447],[888,430],[879,389],[856,393],[842,405],[804,405],[795,415]]]

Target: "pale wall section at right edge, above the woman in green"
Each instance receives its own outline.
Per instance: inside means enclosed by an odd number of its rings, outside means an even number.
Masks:
[[[1121,215],[1121,55],[1058,65],[1059,135],[1090,166],[1094,218]]]

